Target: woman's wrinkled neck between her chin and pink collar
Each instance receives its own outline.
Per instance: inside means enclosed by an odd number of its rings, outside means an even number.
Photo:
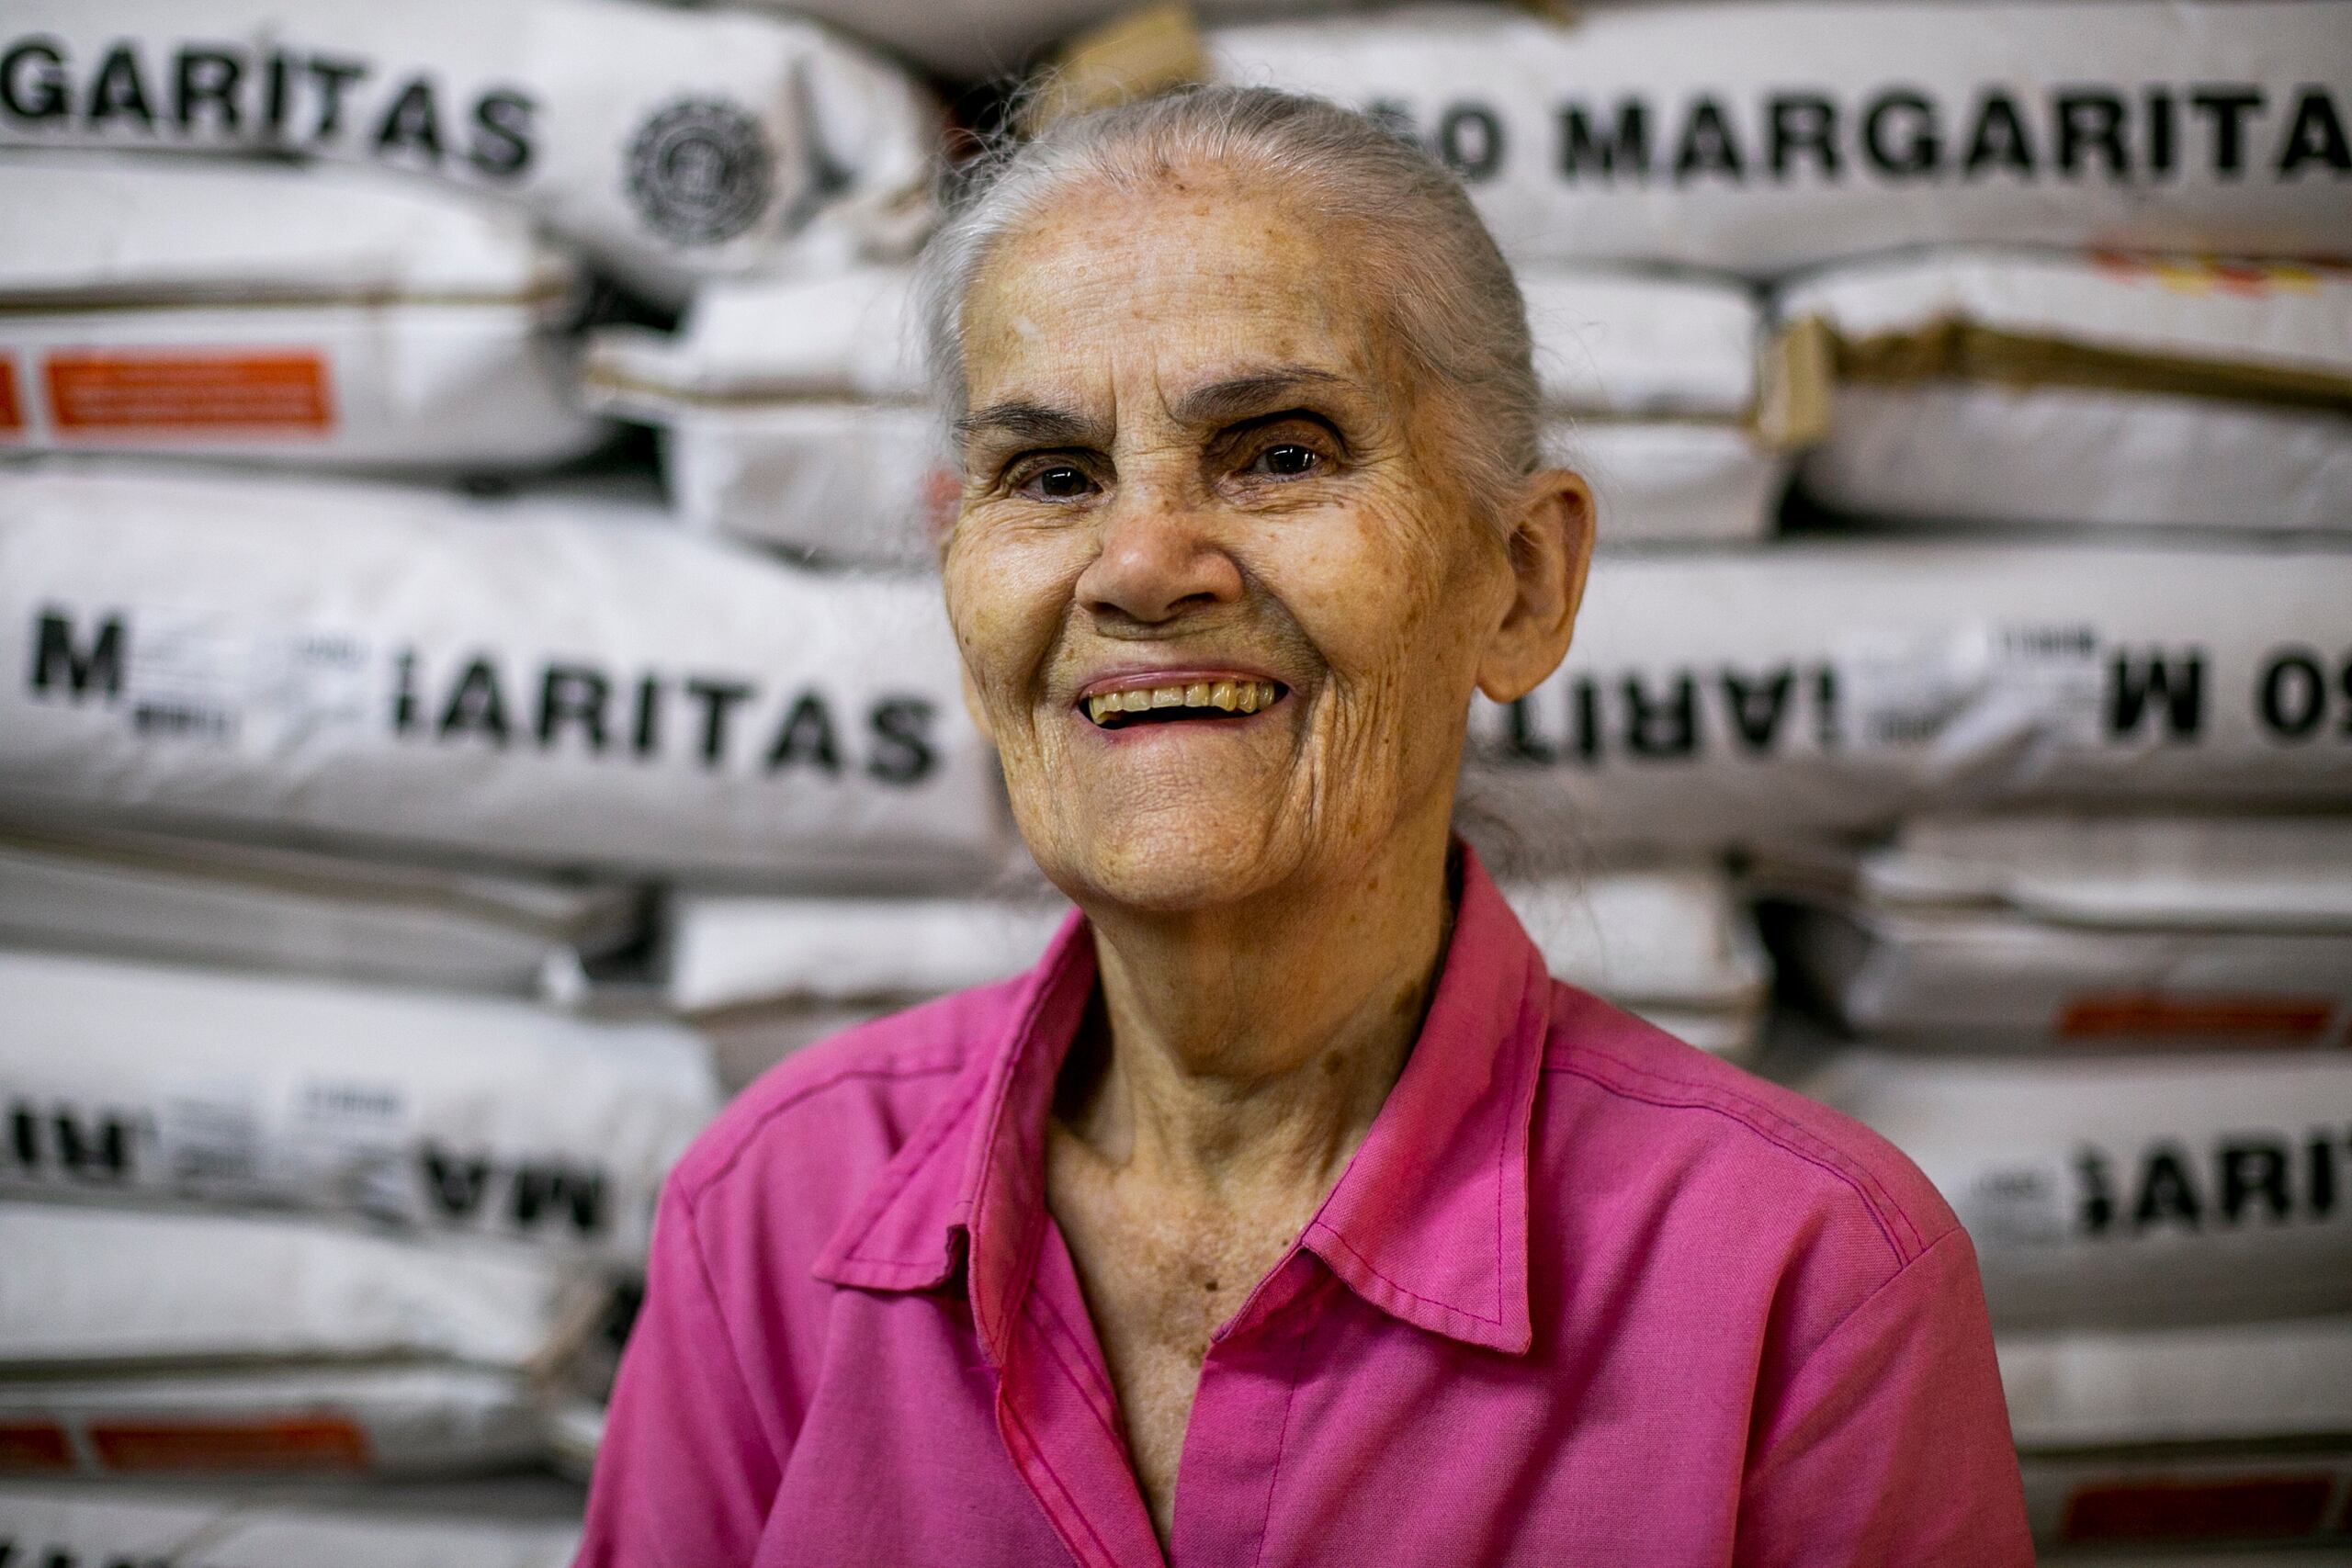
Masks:
[[[1089,910],[1101,997],[1063,1124],[1129,1178],[1211,1201],[1329,1190],[1404,1070],[1451,912],[1444,835],[1247,907]]]

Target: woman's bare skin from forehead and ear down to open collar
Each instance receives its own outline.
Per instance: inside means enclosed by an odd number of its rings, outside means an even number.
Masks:
[[[1472,512],[1451,397],[1355,282],[1367,242],[1169,169],[1007,235],[962,315],[948,614],[1023,839],[1096,931],[1047,1204],[1162,1544],[1209,1335],[1305,1229],[1428,1009],[1470,693],[1559,663],[1590,552],[1576,475],[1531,475],[1501,529]],[[1077,698],[1122,668],[1287,693],[1112,738]]]

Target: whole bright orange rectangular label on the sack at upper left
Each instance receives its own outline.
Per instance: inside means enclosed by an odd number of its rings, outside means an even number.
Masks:
[[[42,362],[64,433],[320,435],[334,425],[327,362],[296,353],[71,353]]]

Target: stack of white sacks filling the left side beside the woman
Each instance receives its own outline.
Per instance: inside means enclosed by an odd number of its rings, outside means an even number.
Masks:
[[[903,254],[936,106],[607,0],[0,31],[0,1556],[567,1561],[720,1103],[647,886],[1002,856],[929,597],[680,531],[581,320]]]

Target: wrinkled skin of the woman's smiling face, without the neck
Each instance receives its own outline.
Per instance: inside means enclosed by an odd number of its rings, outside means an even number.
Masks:
[[[1439,400],[1334,287],[1345,237],[1214,176],[1073,207],[1000,249],[964,317],[974,414],[1065,411],[1070,440],[976,428],[948,543],[1030,851],[1080,903],[1188,910],[1442,832],[1472,684],[1524,679],[1491,646],[1517,583]],[[1282,369],[1329,381],[1183,407]],[[1284,473],[1287,447],[1312,468]],[[1105,745],[1075,693],[1129,663],[1237,663],[1291,696],[1279,724]]]

